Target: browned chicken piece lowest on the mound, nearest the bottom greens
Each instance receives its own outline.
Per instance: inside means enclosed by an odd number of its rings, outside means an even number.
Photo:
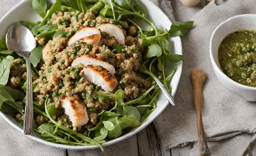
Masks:
[[[61,105],[65,109],[73,127],[78,127],[88,123],[89,118],[86,107],[82,100],[76,95],[61,96]]]

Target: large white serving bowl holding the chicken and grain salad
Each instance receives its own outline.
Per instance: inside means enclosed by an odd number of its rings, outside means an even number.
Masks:
[[[51,4],[54,3],[55,0],[48,0]],[[0,20],[0,38],[5,37],[7,30],[14,24],[16,24],[20,20],[26,20],[26,21],[40,21],[42,18],[31,7],[32,0],[22,0],[19,4],[17,4],[14,8],[12,8],[1,20]],[[149,12],[149,18],[151,21],[153,21],[157,27],[160,29],[170,29],[171,21],[168,19],[168,17],[158,8],[155,6],[152,2],[149,0],[141,0],[141,2],[146,6]],[[182,45],[180,37],[172,37],[169,39],[169,50],[172,54],[180,54],[182,55]],[[177,65],[177,70],[172,77],[172,80],[170,82],[170,86],[172,86],[172,96],[176,93],[178,83],[180,81],[180,75],[182,72],[182,62],[180,62]],[[166,66],[166,71],[171,71],[170,69],[173,69],[174,65],[169,64]],[[126,133],[125,135],[122,135],[114,140],[110,140],[102,146],[108,146],[110,144],[114,144],[116,142],[119,142],[121,140],[124,140],[125,138],[128,138],[142,129],[144,129],[147,125],[149,125],[164,109],[168,106],[169,102],[167,101],[164,94],[160,94],[158,97],[158,101],[156,103],[156,109],[151,113],[151,115],[144,120],[139,127],[136,127],[132,129],[129,133]],[[22,135],[23,129],[20,127],[16,121],[11,117],[10,115],[4,114],[0,112],[0,115],[8,122],[10,125],[18,129]],[[17,135],[18,137],[18,135]],[[72,146],[72,145],[64,145],[64,144],[56,144],[52,142],[48,142],[46,140],[43,140],[40,138],[39,135],[36,135],[32,133],[31,135],[28,135],[28,137],[32,138],[33,140],[36,140],[38,142],[41,142],[46,145],[58,147],[58,148],[66,148],[66,149],[73,149],[73,150],[81,150],[81,149],[93,149],[98,148],[99,146]]]

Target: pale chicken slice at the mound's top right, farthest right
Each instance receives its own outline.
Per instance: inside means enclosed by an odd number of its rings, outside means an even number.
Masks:
[[[106,32],[108,35],[114,37],[119,45],[125,45],[124,33],[118,25],[114,25],[112,23],[104,23],[99,25],[97,28],[102,32]]]

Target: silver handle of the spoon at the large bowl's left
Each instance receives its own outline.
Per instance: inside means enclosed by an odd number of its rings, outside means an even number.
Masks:
[[[33,128],[32,77],[31,77],[30,60],[28,56],[24,57],[24,59],[26,60],[26,65],[27,65],[27,97],[26,97],[23,134],[30,134]]]

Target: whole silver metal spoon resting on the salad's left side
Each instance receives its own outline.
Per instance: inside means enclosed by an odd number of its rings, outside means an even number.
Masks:
[[[6,34],[6,45],[24,57],[27,66],[27,97],[24,116],[24,134],[30,134],[33,127],[33,93],[30,60],[28,55],[36,47],[36,40],[30,30],[22,25],[13,25]]]

